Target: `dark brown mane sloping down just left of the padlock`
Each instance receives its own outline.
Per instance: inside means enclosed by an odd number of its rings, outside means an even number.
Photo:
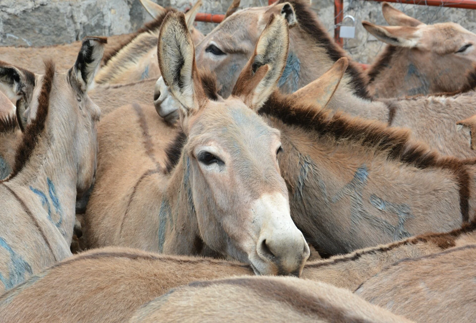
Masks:
[[[347,57],[343,49],[329,37],[326,29],[317,20],[316,14],[311,10],[305,0],[279,0],[278,3],[289,2],[294,7],[296,18],[300,28],[305,31],[317,44],[326,49],[327,55],[336,62],[342,57]],[[350,75],[350,85],[354,89],[354,94],[360,98],[370,99],[367,91],[367,82],[362,73],[357,69],[355,62],[349,59],[349,66],[346,74]]]

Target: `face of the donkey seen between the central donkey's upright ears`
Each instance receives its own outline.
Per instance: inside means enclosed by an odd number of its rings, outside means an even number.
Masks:
[[[235,5],[238,6],[237,3]],[[253,53],[259,35],[273,14],[284,17],[289,27],[297,24],[289,2],[247,8],[233,14],[227,12],[228,17],[197,45],[197,60],[200,66],[216,72],[218,83],[223,84],[220,90],[223,97],[230,95],[241,69]]]

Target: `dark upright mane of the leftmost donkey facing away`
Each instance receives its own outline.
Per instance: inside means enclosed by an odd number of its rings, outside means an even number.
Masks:
[[[3,181],[8,181],[15,177],[23,166],[30,160],[31,154],[38,143],[38,137],[45,128],[46,117],[48,116],[48,107],[50,105],[50,91],[53,86],[53,79],[55,76],[55,65],[52,60],[44,61],[45,75],[43,76],[43,83],[41,84],[40,95],[38,96],[38,110],[36,117],[31,121],[30,125],[25,128],[23,138],[17,149],[15,155],[15,164],[11,175]],[[18,109],[17,109],[18,114]],[[18,116],[17,116],[18,119]]]

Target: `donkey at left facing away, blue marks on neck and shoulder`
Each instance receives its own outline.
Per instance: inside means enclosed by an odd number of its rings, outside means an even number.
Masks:
[[[106,39],[87,37],[74,66],[45,74],[0,62],[2,89],[17,99],[24,135],[0,181],[0,291],[71,255],[76,195],[96,170],[99,108],[87,95]]]

